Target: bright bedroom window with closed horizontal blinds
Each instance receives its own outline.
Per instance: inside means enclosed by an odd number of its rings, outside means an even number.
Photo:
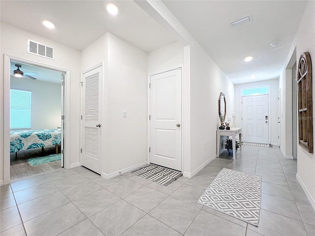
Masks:
[[[32,92],[10,89],[10,129],[31,128]]]

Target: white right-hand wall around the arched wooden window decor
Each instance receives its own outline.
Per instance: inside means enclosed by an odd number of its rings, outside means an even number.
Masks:
[[[289,87],[286,77],[292,76],[288,74],[286,67],[290,64],[291,56],[296,48],[296,61],[299,61],[300,55],[309,52],[312,59],[312,68],[315,69],[315,1],[308,1],[305,11],[300,22],[299,29],[293,40],[290,52],[286,58],[285,66],[280,77],[279,87],[284,91],[284,95],[290,96],[291,91],[285,90]],[[314,73],[313,73],[314,78]],[[315,83],[313,80],[313,101],[315,101]],[[315,111],[315,102],[313,102],[313,111]],[[282,114],[286,115],[286,106],[282,104]],[[313,112],[314,117],[314,112]],[[315,123],[313,123],[313,140],[315,140]],[[285,130],[281,132],[281,143],[286,142]],[[298,145],[297,148],[297,177],[300,178],[302,186],[311,200],[311,204],[315,208],[315,155],[309,153],[306,149]]]

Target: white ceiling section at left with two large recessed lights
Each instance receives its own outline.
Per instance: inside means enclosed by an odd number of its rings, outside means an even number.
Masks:
[[[175,39],[131,0],[114,0],[119,14],[106,11],[107,0],[1,0],[1,21],[82,50],[107,31],[145,52]],[[14,14],[18,9],[18,14]],[[52,21],[56,29],[41,22]]]

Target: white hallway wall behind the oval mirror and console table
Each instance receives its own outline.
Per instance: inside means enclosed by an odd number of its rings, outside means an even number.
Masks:
[[[220,126],[218,101],[226,98],[226,120],[234,112],[234,85],[215,61],[200,47],[190,44],[190,173],[216,156],[217,129]],[[208,148],[205,148],[205,142]]]

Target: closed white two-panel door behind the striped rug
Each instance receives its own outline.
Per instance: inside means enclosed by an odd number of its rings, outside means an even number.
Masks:
[[[151,76],[151,163],[182,170],[181,125],[181,68]]]

